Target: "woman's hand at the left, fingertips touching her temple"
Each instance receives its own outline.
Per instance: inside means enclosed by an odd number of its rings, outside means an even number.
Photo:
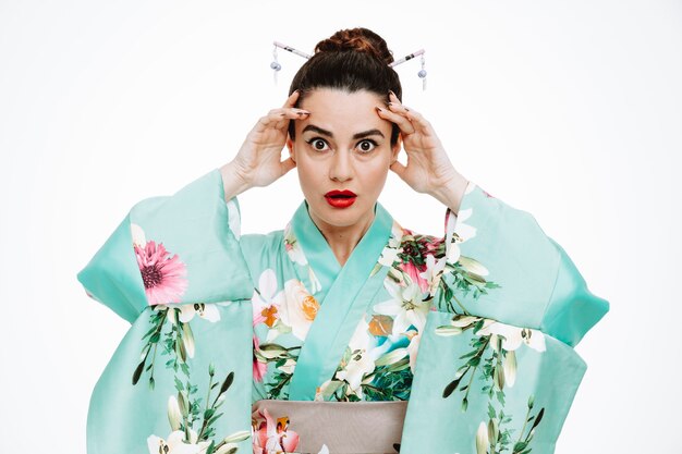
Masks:
[[[267,186],[296,167],[291,158],[281,160],[289,122],[302,120],[308,111],[294,108],[294,91],[279,109],[260,118],[251,130],[234,159],[220,168],[226,200],[254,186]]]

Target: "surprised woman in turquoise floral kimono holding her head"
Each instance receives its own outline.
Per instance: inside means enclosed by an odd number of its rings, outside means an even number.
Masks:
[[[318,44],[233,161],[136,205],[81,271],[132,322],[88,453],[553,452],[608,303],[455,171],[391,61],[365,28]],[[292,220],[242,236],[235,197],[294,168]],[[377,203],[389,170],[447,208],[443,237]]]

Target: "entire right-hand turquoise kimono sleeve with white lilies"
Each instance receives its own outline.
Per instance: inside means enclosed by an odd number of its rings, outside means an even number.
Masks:
[[[444,244],[401,452],[553,453],[587,369],[573,347],[609,303],[531,213],[473,183]]]

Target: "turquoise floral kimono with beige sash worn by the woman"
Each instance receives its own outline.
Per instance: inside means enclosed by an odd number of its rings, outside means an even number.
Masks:
[[[93,391],[88,454],[552,453],[586,369],[573,347],[609,308],[474,183],[442,236],[377,203],[340,266],[305,201],[241,235],[214,170],[135,205],[77,278],[132,323]]]

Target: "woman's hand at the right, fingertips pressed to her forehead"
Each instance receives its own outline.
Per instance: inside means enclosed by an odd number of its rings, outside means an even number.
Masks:
[[[377,112],[401,131],[407,164],[393,162],[391,170],[418,193],[429,194],[455,213],[467,181],[454,169],[431,124],[418,112],[404,107],[391,93],[388,109]]]

